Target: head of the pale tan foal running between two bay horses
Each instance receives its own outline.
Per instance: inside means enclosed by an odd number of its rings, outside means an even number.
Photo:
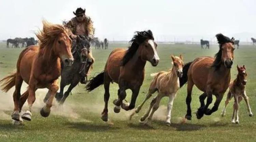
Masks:
[[[178,77],[182,77],[182,75],[183,75],[182,69],[184,66],[183,56],[180,55],[179,57],[177,57],[177,56],[172,55],[171,58],[172,58],[174,72],[176,73],[176,75]]]

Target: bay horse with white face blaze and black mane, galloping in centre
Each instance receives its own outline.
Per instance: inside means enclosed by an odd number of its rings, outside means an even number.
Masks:
[[[152,66],[157,66],[159,57],[156,51],[157,44],[151,30],[135,32],[132,40],[129,42],[128,50],[114,49],[106,62],[102,73],[89,80],[86,85],[87,91],[92,91],[101,84],[104,84],[105,107],[101,119],[108,121],[108,101],[110,82],[118,84],[118,99],[114,100],[114,112],[119,113],[121,107],[124,110],[131,110],[135,107],[136,99],[140,91],[145,76],[146,61]],[[126,98],[126,90],[132,91],[131,103],[123,103]],[[120,107],[121,106],[121,107]]]

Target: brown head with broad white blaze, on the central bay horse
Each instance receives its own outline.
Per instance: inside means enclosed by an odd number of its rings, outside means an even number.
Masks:
[[[159,57],[156,52],[157,44],[154,40],[147,39],[145,40],[139,48],[139,53],[142,60],[149,61],[152,66],[157,66],[159,62]]]

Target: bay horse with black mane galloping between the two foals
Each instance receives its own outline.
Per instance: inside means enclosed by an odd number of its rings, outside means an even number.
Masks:
[[[223,34],[216,35],[219,43],[219,51],[212,57],[199,57],[194,61],[185,64],[183,67],[183,76],[180,78],[180,87],[187,82],[187,114],[185,118],[191,120],[191,92],[196,85],[199,90],[204,92],[200,95],[200,108],[196,115],[201,119],[203,115],[211,115],[218,110],[224,93],[230,83],[230,68],[234,59],[234,38],[229,38]],[[208,109],[212,103],[212,95],[216,96],[216,101],[212,109]],[[204,100],[207,97],[207,103]]]

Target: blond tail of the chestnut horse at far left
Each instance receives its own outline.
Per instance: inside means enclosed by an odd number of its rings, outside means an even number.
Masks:
[[[0,87],[2,91],[8,92],[15,85],[16,74],[17,72],[12,73],[0,80]]]

